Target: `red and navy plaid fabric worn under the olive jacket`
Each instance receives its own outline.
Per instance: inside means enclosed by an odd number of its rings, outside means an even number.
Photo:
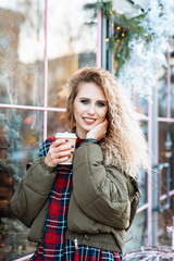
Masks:
[[[42,144],[39,157],[48,153],[49,147],[54,140],[52,136]],[[77,138],[76,148],[82,142],[83,140]],[[121,261],[121,253],[84,245],[76,248],[74,241],[65,238],[71,191],[72,165],[59,164],[57,178],[50,192],[45,237],[30,261]]]

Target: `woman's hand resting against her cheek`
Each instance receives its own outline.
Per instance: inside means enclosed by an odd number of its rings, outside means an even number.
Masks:
[[[94,139],[97,139],[98,141],[104,138],[107,134],[108,124],[109,123],[105,119],[102,123],[98,124],[96,127],[90,129],[87,133],[86,138],[94,138]]]

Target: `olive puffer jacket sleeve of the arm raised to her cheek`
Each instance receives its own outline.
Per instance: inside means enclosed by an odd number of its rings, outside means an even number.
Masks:
[[[99,145],[84,142],[75,151],[73,194],[79,208],[94,220],[115,228],[129,226],[130,200],[125,179],[119,170],[113,176],[111,169],[104,167]]]

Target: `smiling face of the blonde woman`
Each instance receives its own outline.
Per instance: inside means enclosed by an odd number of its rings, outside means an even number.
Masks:
[[[103,122],[108,112],[105,95],[95,83],[82,83],[73,103],[76,134],[86,138],[87,133]]]

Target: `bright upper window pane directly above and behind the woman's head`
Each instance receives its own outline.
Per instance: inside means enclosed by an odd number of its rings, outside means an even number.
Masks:
[[[94,2],[94,1],[87,1]],[[79,67],[96,65],[97,21],[86,25],[84,1],[48,1],[48,104],[65,107],[66,82]],[[69,7],[69,8],[67,8]],[[61,104],[60,104],[61,100]]]

